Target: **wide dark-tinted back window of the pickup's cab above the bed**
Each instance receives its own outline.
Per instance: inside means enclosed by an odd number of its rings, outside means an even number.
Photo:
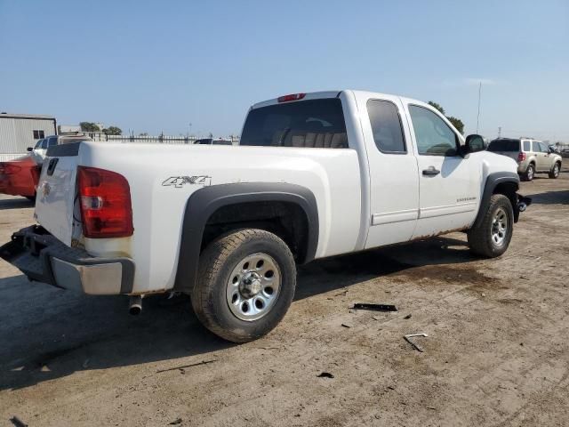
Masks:
[[[239,145],[347,149],[341,100],[293,101],[252,109]]]

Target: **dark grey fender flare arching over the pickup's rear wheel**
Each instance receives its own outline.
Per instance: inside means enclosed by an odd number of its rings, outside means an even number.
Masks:
[[[301,185],[285,182],[239,182],[207,186],[188,198],[181,227],[178,268],[173,290],[188,292],[196,283],[205,224],[220,207],[247,202],[288,202],[299,205],[308,219],[306,256],[310,262],[317,252],[319,226],[316,197]]]

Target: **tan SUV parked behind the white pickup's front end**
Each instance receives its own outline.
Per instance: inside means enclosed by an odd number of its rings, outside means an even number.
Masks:
[[[516,160],[517,173],[523,181],[532,181],[535,173],[549,173],[549,178],[556,179],[561,171],[562,157],[531,138],[498,138],[490,142],[488,151]]]

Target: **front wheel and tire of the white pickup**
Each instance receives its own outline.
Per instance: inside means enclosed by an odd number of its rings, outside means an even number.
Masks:
[[[500,256],[508,249],[513,231],[514,210],[509,198],[494,194],[480,225],[468,232],[470,252],[488,258]]]

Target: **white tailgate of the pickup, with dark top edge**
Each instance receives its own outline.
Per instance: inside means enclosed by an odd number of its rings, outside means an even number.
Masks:
[[[37,222],[68,246],[73,236],[80,145],[81,142],[75,142],[50,147],[37,185]]]

